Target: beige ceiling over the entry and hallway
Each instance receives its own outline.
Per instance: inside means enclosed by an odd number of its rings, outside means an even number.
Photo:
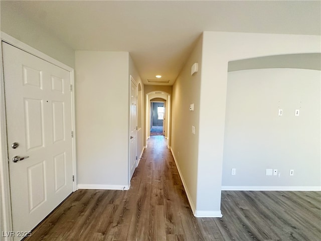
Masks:
[[[74,50],[128,51],[172,85],[203,31],[320,35],[320,1],[1,1]],[[162,83],[163,84],[163,83]]]

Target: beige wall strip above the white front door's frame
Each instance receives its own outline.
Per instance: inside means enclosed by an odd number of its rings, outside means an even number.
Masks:
[[[23,13],[18,12],[19,8],[10,2],[0,1],[1,31],[75,68],[75,51],[41,24],[26,19]]]

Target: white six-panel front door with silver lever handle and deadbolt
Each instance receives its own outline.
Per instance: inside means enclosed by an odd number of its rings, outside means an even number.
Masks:
[[[71,74],[2,43],[17,234],[32,230],[73,192]]]

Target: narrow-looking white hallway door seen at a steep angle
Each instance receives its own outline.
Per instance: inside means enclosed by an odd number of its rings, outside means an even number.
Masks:
[[[129,179],[137,165],[137,85],[130,76],[130,144]]]

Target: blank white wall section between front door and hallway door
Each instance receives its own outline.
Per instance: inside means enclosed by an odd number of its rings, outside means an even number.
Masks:
[[[128,52],[76,51],[77,182],[128,187]]]

